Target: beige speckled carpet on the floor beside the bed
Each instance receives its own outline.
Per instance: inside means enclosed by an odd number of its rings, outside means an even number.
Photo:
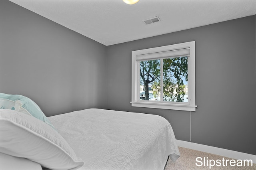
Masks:
[[[223,156],[209,154],[206,152],[201,152],[198,150],[192,150],[192,149],[182,148],[182,147],[179,147],[179,150],[180,150],[180,158],[178,158],[178,160],[176,160],[175,162],[172,162],[169,159],[165,170],[198,170],[198,169],[199,170],[256,170],[256,164],[253,164],[251,166],[251,163],[250,163],[248,166],[247,162],[246,162],[246,166],[240,166],[240,164],[238,164],[239,166],[230,166],[230,162],[227,162],[226,160],[233,160],[233,158],[226,158]],[[202,160],[198,158],[199,162],[196,161],[197,157],[202,158]],[[204,166],[204,158],[206,160],[205,166]],[[224,158],[224,166],[223,166],[223,158]],[[208,166],[207,166],[207,159],[208,159]],[[211,161],[212,165],[214,164],[213,160],[215,160],[215,162],[216,160],[218,161],[216,162],[215,166],[211,166],[210,168],[210,160],[212,160]],[[218,163],[218,162],[221,162],[221,163]],[[226,166],[226,162],[228,166]],[[217,163],[219,166],[217,166]],[[235,160],[235,164],[236,163],[237,163],[237,160]],[[197,166],[196,164],[202,165],[202,166]],[[231,163],[231,165],[233,164]]]

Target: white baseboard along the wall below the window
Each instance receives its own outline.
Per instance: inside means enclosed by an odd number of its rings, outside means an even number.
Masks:
[[[176,143],[177,143],[178,146],[183,147],[183,148],[199,150],[199,151],[202,151],[202,152],[217,154],[217,155],[220,155],[220,156],[233,158],[233,159],[252,160],[253,163],[256,163],[256,155],[253,155],[253,154],[246,154],[246,153],[243,153],[243,152],[237,152],[237,151],[234,151],[234,150],[216,148],[216,147],[213,147],[213,146],[207,146],[207,145],[203,145],[203,144],[186,142],[186,141],[183,141],[183,140],[176,140]]]

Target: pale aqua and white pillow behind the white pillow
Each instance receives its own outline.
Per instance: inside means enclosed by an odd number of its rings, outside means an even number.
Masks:
[[[46,115],[41,111],[40,107],[28,97],[0,93],[0,109],[12,109],[27,115],[32,115],[56,130],[52,123],[47,119]]]

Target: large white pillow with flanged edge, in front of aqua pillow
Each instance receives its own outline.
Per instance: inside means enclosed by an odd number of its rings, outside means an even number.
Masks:
[[[75,170],[84,164],[56,130],[24,113],[0,109],[0,136],[0,152],[45,168]]]

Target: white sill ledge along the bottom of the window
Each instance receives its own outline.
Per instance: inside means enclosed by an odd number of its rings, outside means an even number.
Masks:
[[[155,102],[130,102],[132,107],[148,107],[155,109],[172,109],[179,111],[196,111],[197,106],[186,105],[186,104],[173,104],[173,103],[155,103]]]

